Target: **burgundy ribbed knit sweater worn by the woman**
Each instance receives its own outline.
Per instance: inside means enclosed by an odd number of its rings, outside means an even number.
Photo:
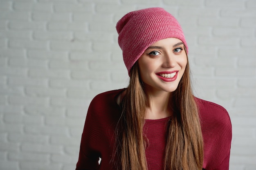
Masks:
[[[115,98],[124,89],[104,92],[91,102],[83,129],[76,170],[115,170],[115,126],[121,109]],[[212,102],[196,98],[204,140],[205,170],[228,170],[232,138],[227,111]],[[166,146],[166,122],[169,118],[145,120],[144,134],[148,170],[163,170]],[[99,164],[99,157],[101,163]],[[117,161],[117,160],[115,160]]]

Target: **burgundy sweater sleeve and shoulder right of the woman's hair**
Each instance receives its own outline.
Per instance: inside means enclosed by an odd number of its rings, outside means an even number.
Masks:
[[[204,139],[205,170],[229,170],[232,126],[225,108],[197,99]]]

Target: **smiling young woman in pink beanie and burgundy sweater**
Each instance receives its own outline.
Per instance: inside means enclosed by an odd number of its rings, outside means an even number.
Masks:
[[[177,20],[149,8],[116,28],[130,83],[92,100],[76,170],[228,170],[229,115],[193,96]]]

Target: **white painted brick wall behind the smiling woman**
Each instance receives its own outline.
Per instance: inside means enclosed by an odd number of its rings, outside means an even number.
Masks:
[[[0,0],[0,170],[75,168],[90,101],[128,83],[115,24],[156,6],[182,24],[196,96],[229,111],[230,169],[256,169],[255,0]]]

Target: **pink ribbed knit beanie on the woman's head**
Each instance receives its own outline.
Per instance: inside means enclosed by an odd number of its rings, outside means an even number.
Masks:
[[[162,8],[132,11],[117,22],[118,44],[128,73],[144,51],[156,41],[166,38],[180,39],[186,50],[188,46],[178,21]]]

